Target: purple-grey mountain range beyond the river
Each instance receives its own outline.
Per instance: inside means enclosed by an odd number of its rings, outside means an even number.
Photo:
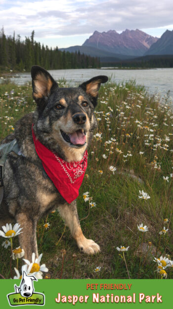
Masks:
[[[141,30],[126,29],[121,34],[115,30],[94,33],[82,46],[62,48],[100,57],[101,62],[132,59],[145,55],[173,54],[173,31],[167,30],[161,38],[153,37]]]

